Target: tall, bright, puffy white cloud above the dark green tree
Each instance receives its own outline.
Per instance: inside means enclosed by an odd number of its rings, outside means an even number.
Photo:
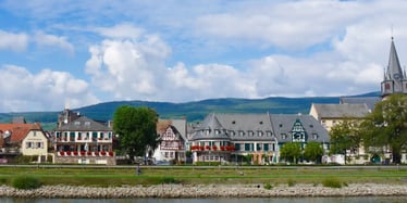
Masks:
[[[115,98],[155,98],[170,49],[157,36],[143,41],[103,40],[90,47],[86,73],[94,85]]]

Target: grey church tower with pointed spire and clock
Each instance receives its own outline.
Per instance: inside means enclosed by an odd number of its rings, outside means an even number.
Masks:
[[[387,69],[384,71],[384,79],[382,81],[381,90],[382,98],[392,93],[407,93],[406,73],[402,71],[393,37],[390,47],[388,65]]]

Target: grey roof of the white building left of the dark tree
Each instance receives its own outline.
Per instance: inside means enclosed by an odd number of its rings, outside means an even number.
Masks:
[[[111,131],[112,128],[95,122],[86,116],[81,116],[57,128],[59,131]]]

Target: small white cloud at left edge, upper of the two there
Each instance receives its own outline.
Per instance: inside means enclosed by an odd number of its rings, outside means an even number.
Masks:
[[[0,50],[25,51],[28,46],[28,36],[25,33],[8,33],[0,30]]]

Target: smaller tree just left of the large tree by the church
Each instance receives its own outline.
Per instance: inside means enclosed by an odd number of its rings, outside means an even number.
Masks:
[[[333,126],[330,131],[331,154],[344,154],[346,164],[346,151],[355,151],[360,145],[360,135],[358,132],[358,122],[345,118],[340,124]]]

